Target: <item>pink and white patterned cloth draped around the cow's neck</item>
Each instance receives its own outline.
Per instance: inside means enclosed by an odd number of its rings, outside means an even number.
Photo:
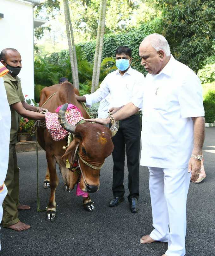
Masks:
[[[62,105],[59,106],[55,110],[55,112],[59,112],[61,107]],[[58,121],[58,114],[47,112],[45,114],[45,118],[46,118],[46,128],[49,131],[54,141],[63,140],[68,136],[69,132],[66,131]],[[79,121],[83,120],[84,118],[79,108],[77,108],[72,104],[69,104],[65,113],[65,119],[68,123],[72,125],[76,125]]]

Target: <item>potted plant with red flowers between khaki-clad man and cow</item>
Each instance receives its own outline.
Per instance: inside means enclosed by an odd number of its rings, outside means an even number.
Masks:
[[[34,120],[29,120],[28,118],[20,118],[20,126],[18,131],[18,141],[31,141],[31,129],[34,126]]]

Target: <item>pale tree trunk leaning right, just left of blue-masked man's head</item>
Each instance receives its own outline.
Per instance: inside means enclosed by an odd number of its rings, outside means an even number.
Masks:
[[[96,39],[96,46],[95,46],[91,93],[95,92],[95,89],[99,83],[101,55],[102,55],[102,49],[103,49],[103,39],[104,39],[104,29],[105,29],[106,3],[107,3],[106,0],[100,1],[99,22],[98,22],[98,30],[97,30],[98,32],[97,32],[97,39]]]

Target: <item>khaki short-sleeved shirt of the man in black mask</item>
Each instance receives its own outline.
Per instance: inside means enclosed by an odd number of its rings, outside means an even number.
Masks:
[[[7,74],[3,76],[3,80],[11,112],[10,144],[14,144],[18,142],[17,131],[19,129],[20,115],[11,108],[11,105],[25,101],[25,98],[22,93],[21,80],[18,76],[13,77]]]

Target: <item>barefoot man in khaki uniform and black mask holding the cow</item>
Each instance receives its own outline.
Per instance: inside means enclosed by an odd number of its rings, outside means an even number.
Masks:
[[[9,163],[5,178],[8,194],[3,202],[2,223],[3,227],[22,231],[30,228],[30,226],[18,219],[18,210],[28,210],[30,207],[19,203],[19,168],[15,151],[17,131],[20,116],[34,120],[44,120],[45,115],[36,113],[41,112],[41,108],[30,106],[25,102],[21,80],[17,76],[22,68],[19,52],[13,48],[6,48],[0,54],[0,61],[9,70],[9,73],[3,77],[3,80],[11,112]]]

